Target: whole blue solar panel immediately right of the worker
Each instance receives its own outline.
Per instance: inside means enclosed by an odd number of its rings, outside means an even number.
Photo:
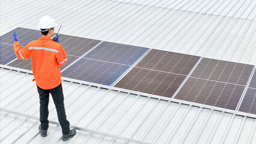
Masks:
[[[148,48],[103,42],[62,72],[62,76],[112,85]]]

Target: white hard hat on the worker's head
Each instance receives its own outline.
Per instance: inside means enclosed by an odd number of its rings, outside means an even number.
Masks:
[[[57,26],[58,24],[55,23],[55,20],[51,16],[43,16],[39,20],[38,28],[40,29],[49,29]]]

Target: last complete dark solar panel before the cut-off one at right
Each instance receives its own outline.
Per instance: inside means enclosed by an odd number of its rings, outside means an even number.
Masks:
[[[236,110],[253,65],[203,58],[175,98]]]

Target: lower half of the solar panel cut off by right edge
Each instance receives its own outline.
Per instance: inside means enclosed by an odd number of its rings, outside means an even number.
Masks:
[[[247,89],[245,96],[243,97],[243,101],[240,105],[239,111],[256,115],[256,89]]]

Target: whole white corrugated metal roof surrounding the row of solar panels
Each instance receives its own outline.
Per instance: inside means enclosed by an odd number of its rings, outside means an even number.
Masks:
[[[62,24],[62,34],[255,65],[255,5],[252,0],[1,1],[0,35],[18,26],[37,29],[40,17],[51,15]],[[49,134],[38,135],[32,75],[1,68],[0,77],[0,143],[64,143],[52,101]],[[256,142],[254,118],[91,83],[63,86],[68,119],[81,130],[67,143]]]

